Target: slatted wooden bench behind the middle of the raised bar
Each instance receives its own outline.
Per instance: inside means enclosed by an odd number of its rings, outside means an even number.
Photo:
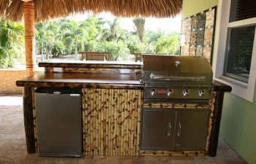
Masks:
[[[110,60],[110,52],[79,52],[80,60]]]

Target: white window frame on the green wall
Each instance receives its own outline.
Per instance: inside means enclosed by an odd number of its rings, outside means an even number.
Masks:
[[[217,23],[214,40],[214,58],[213,58],[213,71],[214,79],[219,82],[225,83],[232,87],[232,93],[253,102],[255,93],[255,79],[256,79],[256,28],[255,39],[252,48],[251,68],[249,72],[248,84],[245,82],[225,77],[225,54],[227,43],[227,29],[236,28],[239,26],[256,25],[256,17],[248,18],[245,20],[238,20],[230,22],[230,6],[231,0],[219,0],[217,7]]]

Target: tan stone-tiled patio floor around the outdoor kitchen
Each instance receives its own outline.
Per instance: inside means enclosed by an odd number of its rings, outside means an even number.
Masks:
[[[23,125],[22,95],[0,94],[0,164],[9,163],[42,163],[42,164],[242,164],[246,163],[236,153],[219,139],[217,157],[195,156],[195,157],[116,157],[116,156],[94,156],[80,158],[67,157],[38,157],[37,154],[26,153],[26,141]]]

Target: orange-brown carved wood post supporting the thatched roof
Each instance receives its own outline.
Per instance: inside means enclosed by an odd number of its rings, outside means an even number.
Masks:
[[[26,74],[34,74],[35,65],[35,30],[34,30],[34,2],[23,2],[26,45]]]

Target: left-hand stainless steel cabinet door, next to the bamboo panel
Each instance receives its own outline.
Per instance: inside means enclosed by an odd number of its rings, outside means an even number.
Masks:
[[[176,112],[143,108],[140,149],[173,149]]]

